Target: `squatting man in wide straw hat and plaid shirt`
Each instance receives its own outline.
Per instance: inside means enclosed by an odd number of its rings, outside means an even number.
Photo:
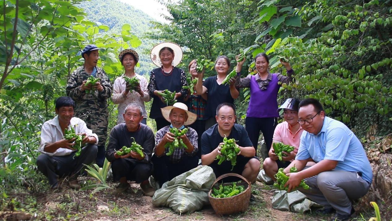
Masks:
[[[187,127],[196,121],[197,115],[188,111],[185,104],[177,102],[173,106],[161,108],[162,116],[170,123],[169,126],[163,127],[156,132],[154,155],[152,156],[152,163],[154,164],[154,178],[160,185],[173,179],[174,177],[187,172],[198,165],[198,151],[197,133],[192,128]],[[174,134],[169,132],[171,128],[184,130],[187,128],[187,133],[181,137],[174,137]],[[165,144],[173,142],[174,139],[181,139],[187,148],[176,148],[172,155],[167,155],[169,152],[165,148]]]

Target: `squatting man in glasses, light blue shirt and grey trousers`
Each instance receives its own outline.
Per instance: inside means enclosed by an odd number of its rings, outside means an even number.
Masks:
[[[332,221],[348,220],[354,213],[351,199],[365,195],[372,183],[372,168],[363,146],[355,134],[342,122],[326,117],[323,106],[316,99],[299,103],[301,135],[296,159],[285,168],[294,166],[297,173],[288,173],[289,191],[305,179],[310,188],[298,188],[312,201],[324,205],[320,212],[332,213]],[[305,167],[313,159],[316,164]],[[304,169],[305,168],[305,169]]]

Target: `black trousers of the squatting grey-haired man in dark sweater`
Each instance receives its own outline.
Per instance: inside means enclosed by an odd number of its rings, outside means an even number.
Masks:
[[[119,158],[112,162],[112,171],[114,181],[119,181],[120,178],[126,177],[127,180],[142,183],[152,174],[152,164],[138,163],[131,159]]]

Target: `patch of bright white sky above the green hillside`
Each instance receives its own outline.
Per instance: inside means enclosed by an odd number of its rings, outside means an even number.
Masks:
[[[159,22],[168,23],[168,21],[160,15],[162,13],[165,15],[169,15],[169,12],[164,5],[161,5],[158,2],[158,0],[120,0],[120,2],[125,2],[129,5],[132,5],[134,8],[143,11],[144,13],[158,20]],[[163,0],[163,2],[167,2],[167,0]]]

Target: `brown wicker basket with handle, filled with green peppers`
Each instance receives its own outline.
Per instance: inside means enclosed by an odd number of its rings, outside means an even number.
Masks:
[[[222,183],[224,178],[237,177],[235,183]],[[239,174],[223,174],[212,183],[208,198],[212,208],[218,215],[245,212],[249,206],[251,185]]]

